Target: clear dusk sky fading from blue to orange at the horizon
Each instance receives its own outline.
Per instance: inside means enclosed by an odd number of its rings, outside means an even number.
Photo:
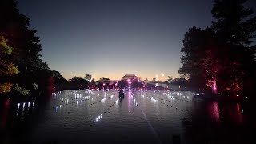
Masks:
[[[248,5],[255,10],[252,0]],[[18,0],[50,69],[96,80],[178,77],[184,34],[210,26],[212,6],[212,0]]]

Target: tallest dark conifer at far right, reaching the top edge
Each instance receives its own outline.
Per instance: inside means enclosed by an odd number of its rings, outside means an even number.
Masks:
[[[218,59],[222,62],[218,81],[222,91],[233,95],[250,92],[255,86],[255,38],[256,16],[247,9],[246,0],[215,0],[212,14],[215,40],[218,44]],[[248,95],[248,94],[246,94]]]

